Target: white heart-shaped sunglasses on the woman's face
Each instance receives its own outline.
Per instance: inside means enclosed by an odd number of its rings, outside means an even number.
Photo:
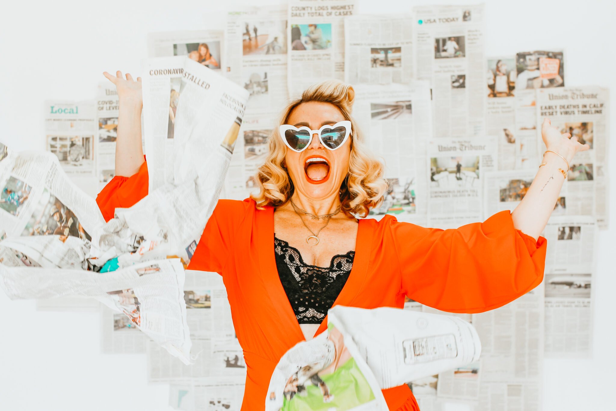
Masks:
[[[318,139],[326,149],[338,149],[351,135],[351,121],[344,120],[330,126],[326,124],[318,130],[312,130],[309,127],[291,126],[291,124],[282,124],[280,126],[280,137],[286,147],[289,147],[294,152],[301,153],[306,150],[306,147],[312,142],[312,136],[318,134]]]

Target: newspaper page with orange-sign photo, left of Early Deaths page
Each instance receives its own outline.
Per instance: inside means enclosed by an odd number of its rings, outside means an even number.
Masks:
[[[541,132],[542,122],[537,121],[537,89],[565,85],[564,52],[519,52],[516,54],[516,71],[515,168],[533,169],[541,163],[541,154],[537,150],[537,135]]]

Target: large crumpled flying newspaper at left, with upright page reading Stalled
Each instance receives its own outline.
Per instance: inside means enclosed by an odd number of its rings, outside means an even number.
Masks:
[[[216,206],[247,100],[186,59],[174,181],[107,223],[54,154],[0,144],[0,287],[12,299],[99,299],[190,364],[184,268]]]

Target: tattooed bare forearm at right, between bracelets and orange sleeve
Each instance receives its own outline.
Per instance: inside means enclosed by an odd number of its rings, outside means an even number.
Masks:
[[[539,168],[529,190],[511,213],[514,227],[535,240],[548,224],[565,181],[558,169],[567,171],[565,161],[552,152],[545,153],[543,161],[546,165]]]

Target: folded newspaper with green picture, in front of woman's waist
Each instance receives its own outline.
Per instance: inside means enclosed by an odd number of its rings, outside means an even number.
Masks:
[[[336,306],[326,332],[280,359],[265,410],[388,410],[381,389],[471,364],[480,353],[475,328],[458,317]]]

